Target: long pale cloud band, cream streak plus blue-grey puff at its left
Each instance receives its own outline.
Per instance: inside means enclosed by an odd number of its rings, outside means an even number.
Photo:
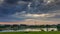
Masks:
[[[16,13],[16,14],[14,14],[15,16],[17,16],[17,17],[21,17],[21,16],[24,16],[24,17],[31,17],[31,18],[39,18],[39,17],[41,17],[41,18],[48,18],[48,17],[55,17],[56,16],[56,13],[46,13],[46,14],[30,14],[30,13],[28,13],[28,14],[26,14],[26,12],[25,11],[22,11],[22,12],[20,12],[20,13]]]

